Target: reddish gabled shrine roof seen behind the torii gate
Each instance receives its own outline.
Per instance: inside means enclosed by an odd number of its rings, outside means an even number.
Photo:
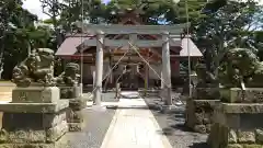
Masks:
[[[133,14],[133,13],[130,13]],[[118,24],[142,24],[141,20],[136,19],[135,18],[130,18],[130,14],[127,14],[128,16],[123,18],[122,22],[119,22]],[[133,16],[133,15],[132,15]],[[83,35],[84,36],[84,35]],[[81,34],[76,34],[76,35],[71,35],[69,37],[67,37],[64,43],[60,45],[60,47],[58,48],[56,55],[58,56],[72,56],[76,55],[77,53],[79,53],[78,49],[80,49],[80,47],[83,45],[83,42],[85,39],[92,39],[94,37],[94,35],[87,35],[84,37],[81,37]],[[111,39],[121,39],[124,38],[125,35],[119,34],[119,35],[111,35],[107,34],[105,36],[106,38],[111,38]],[[139,36],[138,36],[139,37]],[[160,35],[140,35],[141,39],[158,39],[161,36]],[[199,49],[196,47],[196,45],[193,43],[192,39],[188,39],[188,45],[187,45],[187,38],[183,38],[182,41],[179,42],[179,38],[171,38],[170,39],[171,44],[173,44],[173,47],[171,47],[171,52],[173,53],[179,53],[180,52],[180,57],[187,57],[188,56],[188,49],[190,48],[190,56],[191,57],[202,57],[203,54],[199,52]],[[85,52],[90,48],[91,46],[85,46]],[[119,49],[124,49],[124,48],[128,48],[127,47],[121,47]],[[119,49],[113,50],[113,52],[121,52]],[[155,53],[159,58],[161,58],[161,49],[160,48],[152,48],[152,53]]]

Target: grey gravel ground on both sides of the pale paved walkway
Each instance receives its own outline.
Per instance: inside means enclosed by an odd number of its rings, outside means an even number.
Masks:
[[[113,94],[104,94],[104,101],[112,102]],[[173,148],[209,148],[206,145],[207,135],[193,133],[184,126],[184,106],[173,113],[161,113],[156,107],[160,99],[147,98],[146,103],[150,106],[159,126]],[[105,112],[84,110],[85,127],[81,133],[67,133],[62,138],[68,141],[65,148],[100,148],[115,114],[115,110],[107,109]]]

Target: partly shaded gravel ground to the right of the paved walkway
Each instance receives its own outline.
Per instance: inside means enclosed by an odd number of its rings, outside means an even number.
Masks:
[[[206,145],[207,135],[193,133],[184,126],[184,106],[179,107],[173,113],[161,113],[159,110],[151,107],[160,103],[160,99],[147,98],[145,99],[150,106],[159,126],[173,148],[209,148]]]

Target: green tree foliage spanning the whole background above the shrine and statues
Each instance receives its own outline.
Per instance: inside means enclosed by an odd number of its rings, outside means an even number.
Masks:
[[[13,66],[27,56],[28,48],[56,49],[65,33],[79,32],[73,24],[116,23],[128,9],[136,10],[146,24],[192,23],[193,39],[205,55],[207,69],[217,71],[229,48],[242,47],[258,52],[263,59],[263,9],[252,0],[41,0],[44,13],[50,18],[35,26],[37,16],[22,8],[22,0],[0,1],[0,53],[4,54],[4,78]],[[187,8],[187,10],[186,10]],[[82,15],[83,13],[83,15]],[[256,24],[256,25],[255,25]],[[254,26],[258,26],[255,31]],[[15,59],[15,60],[14,60]],[[2,61],[2,59],[1,59]]]

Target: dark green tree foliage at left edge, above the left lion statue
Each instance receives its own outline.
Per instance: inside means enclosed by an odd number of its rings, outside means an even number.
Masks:
[[[53,33],[48,27],[36,27],[37,16],[22,8],[21,0],[0,1],[0,60],[4,79],[10,79],[13,67],[22,61],[28,49],[50,47]]]

